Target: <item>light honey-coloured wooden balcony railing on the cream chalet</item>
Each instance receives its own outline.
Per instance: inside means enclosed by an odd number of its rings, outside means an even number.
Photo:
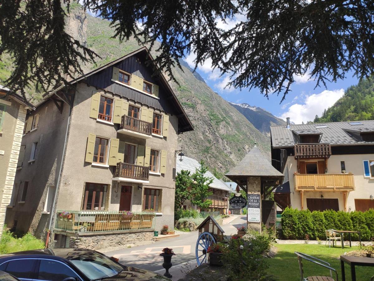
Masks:
[[[353,174],[295,174],[296,191],[353,191]]]

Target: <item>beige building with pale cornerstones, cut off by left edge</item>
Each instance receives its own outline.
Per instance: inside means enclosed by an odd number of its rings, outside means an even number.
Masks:
[[[16,170],[22,168],[22,132],[27,110],[35,107],[0,85],[0,238],[12,197]]]

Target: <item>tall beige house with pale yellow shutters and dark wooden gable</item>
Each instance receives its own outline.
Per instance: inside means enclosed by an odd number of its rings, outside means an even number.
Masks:
[[[143,47],[45,94],[27,116],[10,228],[91,247],[174,225],[177,136],[193,126],[153,69]]]

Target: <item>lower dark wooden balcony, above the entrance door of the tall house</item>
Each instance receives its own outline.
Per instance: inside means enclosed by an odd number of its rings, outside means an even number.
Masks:
[[[149,183],[149,167],[128,163],[117,163],[114,168],[113,181]]]

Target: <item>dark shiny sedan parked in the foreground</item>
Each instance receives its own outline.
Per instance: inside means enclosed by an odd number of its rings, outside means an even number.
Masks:
[[[1,255],[0,270],[21,281],[170,280],[151,271],[121,265],[99,252],[79,248]]]

